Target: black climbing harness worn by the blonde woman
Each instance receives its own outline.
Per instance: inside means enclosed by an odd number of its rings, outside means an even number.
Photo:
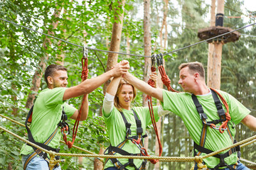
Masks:
[[[114,155],[114,154],[122,154],[122,155],[129,155],[129,156],[148,156],[146,149],[143,146],[143,138],[147,137],[147,135],[142,135],[143,134],[143,128],[142,128],[142,122],[141,120],[139,120],[137,114],[135,113],[135,111],[132,109],[133,113],[134,113],[134,119],[136,121],[136,125],[137,125],[137,135],[136,136],[130,136],[132,134],[131,131],[131,123],[127,122],[127,118],[125,118],[124,113],[120,112],[122,115],[122,118],[124,120],[124,124],[126,127],[126,135],[125,135],[125,139],[119,143],[119,145],[117,145],[117,147],[114,147],[110,144],[110,147],[107,147],[107,149],[105,150],[104,154],[107,152],[107,154],[110,155]],[[132,143],[134,143],[134,145],[136,145],[141,153],[137,153],[137,154],[132,154],[129,153],[125,150],[122,149],[122,147],[124,147],[125,143],[127,141],[131,140]],[[144,159],[144,161],[142,162],[142,164],[139,166],[139,168],[137,168],[137,166],[134,164],[134,159],[129,159],[129,162],[127,162],[126,164],[121,164],[121,162],[119,162],[119,160],[117,158],[107,158],[105,160],[105,164],[111,160],[112,164],[114,164],[114,166],[119,169],[119,170],[123,170],[126,169],[126,166],[134,166],[135,170],[140,170],[140,169],[145,169],[146,168],[146,159]]]

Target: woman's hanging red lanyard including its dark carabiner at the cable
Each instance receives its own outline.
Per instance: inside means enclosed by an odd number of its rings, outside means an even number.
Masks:
[[[155,64],[156,64],[156,55],[152,55],[152,57],[151,57],[151,72],[156,72]],[[148,84],[150,86],[152,86],[152,87],[156,86],[155,82],[152,79],[149,79]],[[154,127],[154,131],[156,132],[156,139],[157,139],[157,141],[159,143],[159,157],[161,157],[163,149],[162,149],[161,141],[160,141],[160,138],[159,138],[159,132],[158,132],[157,126],[156,126],[156,120],[154,118],[154,111],[153,111],[153,105],[152,105],[152,97],[149,96],[149,95],[146,95],[146,101],[148,102],[148,106],[149,106],[149,113],[150,113],[150,117],[151,117],[151,122],[152,122],[152,125]],[[149,156],[149,155],[146,154],[144,156]],[[149,159],[149,161],[152,164],[156,164],[156,162],[159,162],[159,159]]]

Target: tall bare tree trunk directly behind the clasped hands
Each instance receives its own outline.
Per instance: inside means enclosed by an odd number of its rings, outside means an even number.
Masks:
[[[124,4],[125,4],[125,0],[119,1],[118,4],[119,4],[119,8],[123,8]],[[119,52],[119,47],[120,47],[120,42],[121,42],[121,35],[122,35],[122,24],[123,24],[124,13],[121,13],[120,15],[118,15],[119,8],[114,9],[116,11],[115,17],[114,17],[115,22],[113,24],[112,38],[111,38],[111,42],[110,42],[110,51],[113,51],[113,52]],[[114,64],[117,63],[117,58],[118,58],[118,54],[116,54],[116,53],[111,53],[110,52],[108,54],[108,57],[107,57],[107,71],[110,70],[114,66]],[[107,86],[109,84],[110,84],[110,80],[107,81],[104,84],[104,87],[103,87],[104,94],[105,94]],[[101,115],[102,115],[102,113],[101,113]],[[99,154],[103,154],[104,150],[105,149],[103,147],[100,147]],[[96,158],[95,158],[95,162],[94,162],[94,169],[95,170],[102,170],[103,169],[102,162],[100,162]]]

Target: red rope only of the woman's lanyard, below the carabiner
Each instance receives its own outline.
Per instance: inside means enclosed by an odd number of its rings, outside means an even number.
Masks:
[[[156,72],[156,67],[152,66],[151,67],[151,72]],[[152,79],[149,79],[148,81],[148,84],[150,86],[156,86],[155,82],[152,80]],[[159,133],[158,133],[158,130],[157,130],[157,127],[156,127],[156,120],[154,118],[154,111],[153,111],[153,106],[152,106],[152,98],[151,96],[146,96],[146,100],[148,101],[148,105],[149,105],[149,113],[150,113],[150,117],[151,117],[151,121],[152,121],[152,125],[154,127],[154,131],[156,132],[156,138],[157,138],[157,141],[159,143],[159,157],[161,157],[161,154],[163,152],[163,149],[162,149],[162,146],[161,146],[161,141],[159,139]],[[142,152],[142,154],[144,156],[147,156],[149,157],[149,154],[146,152],[146,149],[144,147],[142,147],[142,150],[144,152]],[[156,164],[157,162],[159,162],[159,159],[149,159],[149,161],[152,163],[152,164]]]

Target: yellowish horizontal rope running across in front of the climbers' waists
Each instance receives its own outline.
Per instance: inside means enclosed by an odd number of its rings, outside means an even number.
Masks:
[[[17,122],[16,120],[12,120],[11,118],[6,117],[5,115],[0,114],[1,117],[6,118],[7,120],[11,120],[12,122],[22,125],[22,123]],[[123,155],[105,155],[105,154],[94,154],[92,152],[89,152],[85,149],[82,149],[80,147],[76,147],[75,145],[73,147],[80,149],[84,152],[87,152],[89,154],[67,154],[67,153],[57,153],[53,151],[48,151],[46,149],[43,149],[42,147],[39,147],[38,145],[33,144],[32,142],[29,142],[28,140],[24,139],[23,137],[20,137],[19,135],[16,135],[14,132],[11,132],[7,130],[6,128],[3,128],[0,126],[1,130],[4,130],[5,132],[8,132],[9,134],[13,135],[14,137],[17,137],[19,140],[22,140],[23,142],[28,143],[29,145],[32,145],[33,147],[36,147],[38,149],[41,149],[43,152],[46,152],[50,156],[50,164],[49,168],[52,170],[55,166],[55,164],[59,162],[65,162],[65,159],[56,160],[55,156],[65,156],[65,157],[95,157],[95,158],[101,158],[102,161],[103,158],[123,158],[123,159],[158,159],[159,162],[196,162],[198,164],[198,170],[202,170],[203,168],[207,168],[206,165],[203,164],[203,159],[206,159],[208,157],[212,157],[215,154],[218,154],[220,152],[223,152],[225,150],[228,150],[230,148],[236,147],[240,145],[240,147],[245,147],[247,145],[252,144],[253,142],[256,142],[256,135],[247,138],[246,140],[242,140],[240,142],[235,143],[234,145],[230,145],[229,147],[225,147],[223,149],[220,149],[216,152],[206,154],[205,156],[196,156],[196,157],[145,157],[145,156],[123,156]],[[63,142],[63,141],[61,141]],[[63,142],[65,143],[65,142]],[[103,161],[102,161],[103,162]]]

